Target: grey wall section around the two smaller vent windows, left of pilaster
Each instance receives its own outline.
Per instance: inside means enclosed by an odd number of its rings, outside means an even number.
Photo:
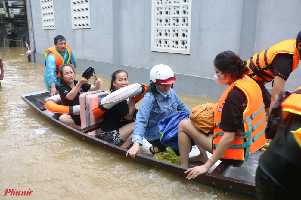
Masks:
[[[40,1],[31,0],[36,52],[44,54],[63,35],[77,58],[113,63],[112,1],[90,1],[91,29],[72,29],[70,0],[53,3],[56,29],[43,30]]]

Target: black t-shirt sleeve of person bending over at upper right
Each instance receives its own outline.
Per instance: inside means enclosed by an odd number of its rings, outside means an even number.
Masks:
[[[274,76],[280,76],[286,81],[293,71],[293,55],[278,53],[267,68],[274,73]]]

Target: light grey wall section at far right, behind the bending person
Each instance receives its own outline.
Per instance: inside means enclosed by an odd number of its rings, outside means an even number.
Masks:
[[[301,30],[301,1],[260,0],[256,41],[253,54],[288,39],[296,39]],[[293,71],[284,89],[295,90],[301,85],[301,64]],[[272,82],[267,86],[272,87]]]

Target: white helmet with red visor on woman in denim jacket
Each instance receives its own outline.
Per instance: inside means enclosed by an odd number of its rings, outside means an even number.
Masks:
[[[151,69],[150,80],[164,85],[172,84],[177,79],[172,69],[167,65],[156,65]]]

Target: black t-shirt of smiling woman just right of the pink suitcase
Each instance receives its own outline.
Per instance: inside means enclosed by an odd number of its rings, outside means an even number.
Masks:
[[[115,91],[116,89],[114,88],[112,92]],[[110,132],[130,123],[131,121],[123,118],[129,113],[129,107],[126,100],[114,105],[104,113],[104,123],[101,127],[101,130],[104,132]]]

